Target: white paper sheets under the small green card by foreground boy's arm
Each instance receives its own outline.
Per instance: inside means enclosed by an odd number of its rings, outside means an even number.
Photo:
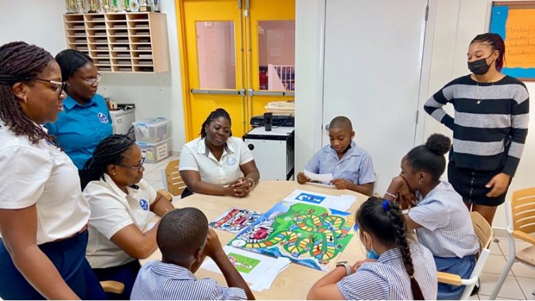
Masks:
[[[258,259],[260,263],[254,267],[248,274],[239,272],[246,282],[250,283],[250,288],[255,291],[263,291],[264,289],[269,289],[273,284],[276,276],[283,271],[286,267],[289,266],[290,261],[288,258],[279,257],[272,258],[269,256],[248,252],[246,250],[241,250],[237,248],[230,247],[225,245],[223,247],[225,254],[235,253],[250,258]],[[209,271],[222,274],[219,270],[219,267],[211,258],[206,258],[201,267],[203,269],[208,269]]]

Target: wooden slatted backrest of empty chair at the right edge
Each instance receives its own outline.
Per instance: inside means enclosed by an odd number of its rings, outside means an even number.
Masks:
[[[511,212],[513,230],[535,232],[535,187],[514,191]]]

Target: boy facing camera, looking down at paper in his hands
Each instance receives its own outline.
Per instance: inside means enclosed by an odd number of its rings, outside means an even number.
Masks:
[[[316,152],[305,170],[320,174],[331,173],[333,180],[330,184],[337,189],[350,189],[371,195],[375,182],[372,157],[353,142],[354,137],[351,121],[347,117],[335,117],[329,125],[331,144]],[[305,173],[298,173],[299,184],[310,181],[311,178],[305,176]]]

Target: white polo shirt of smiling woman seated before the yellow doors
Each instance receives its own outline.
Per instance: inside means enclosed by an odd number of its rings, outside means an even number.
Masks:
[[[239,138],[228,137],[219,160],[206,147],[205,139],[198,138],[182,147],[178,170],[198,171],[203,182],[225,186],[241,178],[240,165],[252,160],[249,147]]]

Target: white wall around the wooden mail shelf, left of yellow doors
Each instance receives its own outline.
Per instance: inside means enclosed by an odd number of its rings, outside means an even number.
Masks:
[[[171,71],[156,74],[104,73],[98,93],[119,103],[136,104],[136,119],[171,119],[171,151],[178,152],[185,143],[186,135],[174,1],[163,1],[160,8],[167,14]],[[23,40],[43,47],[55,56],[67,48],[62,19],[64,12],[64,1],[59,0],[1,0],[0,45]]]

